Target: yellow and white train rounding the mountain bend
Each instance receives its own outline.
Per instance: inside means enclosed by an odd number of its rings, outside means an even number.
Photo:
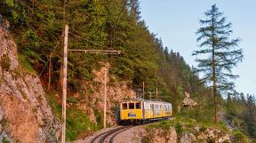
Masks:
[[[132,99],[120,104],[120,119],[124,123],[143,123],[171,115],[172,104],[168,102]]]

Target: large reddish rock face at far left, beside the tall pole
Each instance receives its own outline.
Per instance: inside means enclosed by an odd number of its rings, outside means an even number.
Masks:
[[[56,142],[59,124],[36,75],[22,72],[17,47],[0,27],[0,140]]]

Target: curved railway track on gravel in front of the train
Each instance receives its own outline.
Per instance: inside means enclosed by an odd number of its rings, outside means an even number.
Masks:
[[[119,133],[130,129],[131,126],[124,126],[124,127],[118,127],[115,129],[112,129],[110,131],[105,131],[103,133],[100,133],[99,135],[95,136],[90,143],[104,143],[107,142],[108,143],[114,143],[114,139],[116,137],[116,135],[118,135]],[[110,137],[108,139],[108,137]],[[108,140],[107,140],[108,139]]]

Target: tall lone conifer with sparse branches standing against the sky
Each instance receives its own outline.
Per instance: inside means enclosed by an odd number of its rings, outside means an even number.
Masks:
[[[214,97],[214,121],[218,122],[218,92],[233,90],[234,82],[238,75],[232,74],[232,68],[243,59],[242,49],[237,49],[239,38],[231,39],[231,23],[226,23],[226,17],[219,11],[216,4],[212,9],[204,12],[205,20],[200,20],[202,28],[196,32],[200,50],[194,51],[193,55],[201,55],[198,62],[197,72],[203,72],[202,81],[212,84]],[[203,56],[202,56],[203,55]]]

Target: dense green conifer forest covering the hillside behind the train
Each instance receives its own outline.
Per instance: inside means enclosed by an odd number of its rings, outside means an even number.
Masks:
[[[92,69],[111,65],[111,82],[132,81],[141,97],[146,91],[161,91],[159,99],[170,101],[174,113],[184,92],[200,107],[177,115],[197,121],[213,119],[212,88],[202,82],[179,52],[165,47],[140,18],[139,0],[1,0],[0,14],[8,20],[8,30],[19,48],[24,71],[40,76],[48,91],[61,89],[63,28],[69,26],[69,49],[118,50],[121,55],[68,54],[68,91],[83,92],[80,84],[91,81]],[[196,29],[195,29],[196,30]],[[175,35],[170,31],[170,34]],[[179,48],[179,47],[178,47]],[[256,106],[253,96],[235,94],[221,97],[220,111],[237,130],[256,138]],[[149,99],[149,94],[146,94]],[[224,122],[223,122],[224,123]]]

